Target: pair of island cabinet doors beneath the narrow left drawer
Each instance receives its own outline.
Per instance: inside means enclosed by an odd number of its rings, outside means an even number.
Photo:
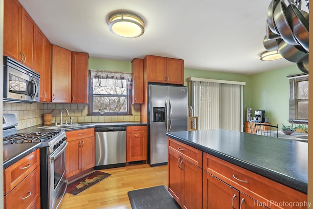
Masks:
[[[168,190],[184,209],[202,207],[202,169],[168,151]]]

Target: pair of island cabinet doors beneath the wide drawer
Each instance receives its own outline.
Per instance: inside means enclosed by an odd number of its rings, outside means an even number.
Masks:
[[[268,209],[262,203],[203,171],[202,209]]]

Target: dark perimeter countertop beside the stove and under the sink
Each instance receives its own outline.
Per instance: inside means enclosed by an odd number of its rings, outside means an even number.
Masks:
[[[106,122],[106,123],[84,123],[86,126],[79,126],[69,130],[84,129],[90,127],[104,127],[104,126],[145,126],[146,123],[142,122]],[[28,132],[39,132],[39,131],[52,131],[51,129],[43,129],[45,125],[36,125],[29,128],[21,129],[18,133],[28,133]],[[51,125],[47,125],[51,126]],[[26,155],[35,151],[41,147],[41,143],[21,143],[21,144],[7,144],[3,145],[3,169],[9,167],[10,165],[18,162]]]

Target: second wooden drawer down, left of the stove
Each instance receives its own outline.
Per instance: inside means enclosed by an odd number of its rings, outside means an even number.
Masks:
[[[31,208],[40,197],[40,166],[4,196],[5,209]]]

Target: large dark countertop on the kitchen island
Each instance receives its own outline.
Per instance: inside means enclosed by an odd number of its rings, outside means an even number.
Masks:
[[[308,192],[307,142],[223,129],[166,135],[302,193]]]

